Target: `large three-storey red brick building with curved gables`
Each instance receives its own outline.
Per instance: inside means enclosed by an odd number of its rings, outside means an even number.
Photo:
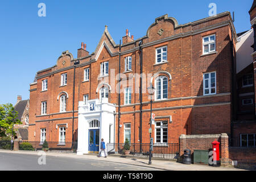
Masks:
[[[230,13],[186,24],[166,14],[145,32],[134,39],[126,31],[118,45],[106,26],[93,53],[82,43],[77,58],[64,51],[55,66],[39,71],[30,84],[28,140],[71,142],[73,134],[75,141],[79,101],[107,97],[116,108],[114,142],[148,143],[151,82],[155,143],[178,142],[181,134],[230,135],[232,37],[237,41]]]

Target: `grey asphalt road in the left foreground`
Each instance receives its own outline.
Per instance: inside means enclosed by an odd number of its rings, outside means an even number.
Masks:
[[[44,160],[45,157],[45,160]],[[46,164],[43,164],[45,161]],[[41,163],[41,165],[40,165]],[[59,156],[0,153],[0,171],[154,171],[155,168]]]

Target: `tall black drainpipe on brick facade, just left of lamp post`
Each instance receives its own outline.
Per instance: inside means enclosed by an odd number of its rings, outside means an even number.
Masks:
[[[143,43],[143,40],[139,42],[139,51],[141,52],[139,56],[139,62],[140,62],[140,77],[139,77],[139,143],[140,143],[140,152],[142,152],[142,63],[143,63],[143,52],[141,48],[141,44]]]

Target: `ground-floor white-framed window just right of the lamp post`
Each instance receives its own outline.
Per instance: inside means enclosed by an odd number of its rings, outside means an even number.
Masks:
[[[168,143],[168,121],[155,122],[155,143]]]

